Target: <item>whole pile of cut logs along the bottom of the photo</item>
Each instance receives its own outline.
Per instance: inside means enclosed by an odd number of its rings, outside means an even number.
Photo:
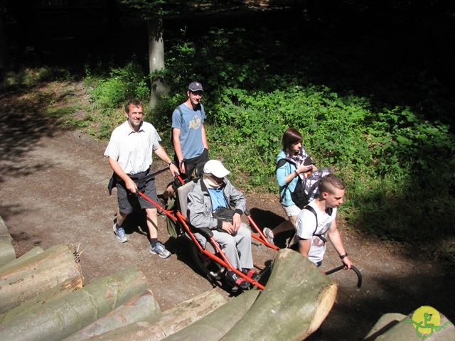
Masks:
[[[15,259],[1,217],[0,243],[0,340],[305,340],[326,318],[337,292],[311,261],[282,249],[264,291],[245,291],[226,302],[213,290],[161,311],[136,266],[85,286],[73,245],[35,247]],[[396,338],[415,335],[404,319],[385,315],[365,340],[413,340]],[[438,340],[455,340],[450,327]]]

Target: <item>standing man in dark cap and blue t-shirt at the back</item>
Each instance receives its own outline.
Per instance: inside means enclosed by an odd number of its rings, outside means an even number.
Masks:
[[[200,104],[204,93],[199,82],[191,82],[186,94],[188,99],[172,113],[172,141],[175,151],[174,163],[179,168],[182,178],[191,178],[198,163],[208,161],[208,144],[205,136],[205,112]],[[169,185],[159,200],[166,203],[175,188]]]

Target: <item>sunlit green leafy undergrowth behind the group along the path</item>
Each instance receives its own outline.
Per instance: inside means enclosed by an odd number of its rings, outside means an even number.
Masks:
[[[280,54],[283,43],[268,35],[214,28],[196,39],[182,31],[171,40],[167,68],[158,75],[165,77],[170,95],[147,116],[164,142],[188,82],[199,80],[210,157],[223,159],[243,190],[277,193],[275,158],[282,134],[294,126],[316,165],[345,180],[341,217],[349,229],[409,242],[422,235],[453,236],[455,140],[449,126],[427,119],[428,113],[405,100],[378,100],[387,98],[381,89],[370,90],[375,96],[368,97],[311,82],[305,70],[311,56],[301,54],[297,63],[291,53]],[[113,113],[102,121],[99,137],[109,137],[123,118],[118,108],[129,97],[125,94],[144,101],[149,95],[134,63],[91,84],[94,107]],[[427,102],[437,99],[429,95]]]

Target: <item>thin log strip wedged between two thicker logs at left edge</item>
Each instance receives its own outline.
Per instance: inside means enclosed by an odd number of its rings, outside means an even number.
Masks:
[[[82,288],[82,276],[77,276],[75,278],[70,278],[67,281],[64,281],[57,286],[50,288],[40,295],[33,297],[18,305],[16,308],[8,310],[4,315],[0,317],[0,325],[6,323],[11,318],[18,318],[19,315],[27,313],[29,310],[32,310],[36,307],[43,307],[43,305],[48,304],[50,301],[54,300],[55,298],[60,298],[62,296],[68,295],[77,289]]]

